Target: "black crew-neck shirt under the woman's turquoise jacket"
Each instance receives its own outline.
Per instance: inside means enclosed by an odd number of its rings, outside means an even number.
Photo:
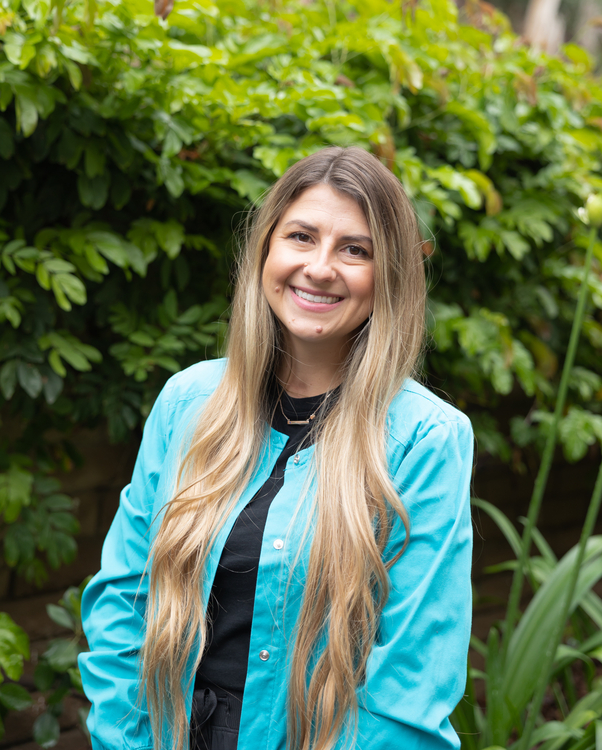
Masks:
[[[336,395],[338,391],[333,391],[326,408],[332,407]],[[272,427],[288,435],[289,440],[266,483],[236,519],[224,546],[208,605],[209,646],[196,674],[195,689],[219,687],[234,694],[244,691],[257,570],[268,511],[284,484],[286,462],[315,439],[315,420],[292,425],[284,414],[290,420],[307,420],[317,414],[324,394],[291,398],[283,392],[280,404],[277,399],[278,393],[273,391]]]

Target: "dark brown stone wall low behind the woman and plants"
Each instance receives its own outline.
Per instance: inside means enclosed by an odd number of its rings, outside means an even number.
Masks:
[[[6,568],[0,568],[0,610],[8,612],[31,638],[31,661],[23,683],[34,695],[34,705],[30,710],[9,714],[0,748],[34,750],[38,747],[31,741],[31,726],[45,704],[43,695],[35,692],[33,669],[49,639],[64,635],[64,631],[47,616],[46,605],[58,602],[68,586],[78,585],[87,575],[98,570],[102,542],[117,509],[119,492],[129,481],[137,451],[134,442],[125,446],[107,445],[105,434],[100,430],[79,434],[77,446],[84,458],[83,468],[62,478],[64,491],[79,501],[81,533],[76,561],[51,572],[41,589],[16,578]],[[597,461],[597,456],[592,455],[573,466],[559,461],[553,467],[539,527],[559,555],[579,537]],[[475,472],[473,494],[489,500],[518,522],[519,517],[526,513],[535,471],[536,466],[532,466],[527,467],[523,474],[516,474],[505,465],[481,458]],[[503,612],[509,584],[508,575],[487,575],[484,570],[488,565],[510,559],[511,552],[485,513],[474,513],[474,530],[473,577],[477,593],[474,630],[479,637],[484,637],[491,622]],[[77,728],[77,711],[81,705],[77,698],[69,698],[66,702],[59,750],[84,750],[87,747],[83,733]]]

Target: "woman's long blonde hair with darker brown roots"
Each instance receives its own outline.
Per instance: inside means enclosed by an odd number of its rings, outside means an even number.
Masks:
[[[420,355],[425,281],[416,218],[397,178],[362,149],[331,147],[292,166],[247,221],[225,372],[203,408],[179,489],[152,545],[142,684],[157,746],[164,720],[173,747],[186,742],[182,675],[193,649],[200,644],[198,666],[207,645],[200,582],[215,538],[257,465],[269,382],[282,363],[280,324],[261,285],[270,237],[283,211],[320,183],[353,198],[366,216],[374,310],[354,338],[340,398],[316,442],[313,538],[292,644],[288,747],[330,750],[349,728],[348,718],[353,724],[357,716],[356,688],[388,595],[392,560],[385,563],[383,553],[395,519],[408,538],[407,515],[387,469],[387,411]]]

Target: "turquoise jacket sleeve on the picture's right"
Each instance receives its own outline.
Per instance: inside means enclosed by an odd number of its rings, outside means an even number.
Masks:
[[[463,415],[432,427],[395,482],[410,540],[390,569],[390,595],[359,693],[357,750],[454,750],[449,721],[466,684],[471,625],[473,435]],[[404,533],[392,537],[389,553]]]

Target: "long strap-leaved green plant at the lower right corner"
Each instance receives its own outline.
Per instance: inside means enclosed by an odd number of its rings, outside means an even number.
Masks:
[[[521,540],[495,506],[484,500],[473,503],[495,521],[513,553],[518,555]],[[492,627],[487,643],[474,635],[471,647],[485,660],[484,670],[469,669],[466,695],[453,714],[453,723],[462,739],[462,750],[493,750],[513,747],[512,734],[522,731],[525,712],[533,699],[544,654],[561,616],[570,583],[571,569],[577,558],[573,547],[557,560],[539,532],[534,534],[539,554],[528,560],[528,578],[533,598],[521,615],[513,633],[505,662],[499,649],[497,627]],[[492,567],[490,573],[515,570],[511,560]],[[593,587],[602,578],[602,537],[590,538],[570,609],[570,625],[564,642],[556,650],[549,693],[562,719],[543,717],[531,737],[531,746],[545,750],[596,748],[596,733],[602,726],[602,681],[596,676],[594,660],[602,657],[602,599]],[[503,623],[502,623],[503,625]],[[581,663],[588,692],[579,698],[571,667]],[[475,681],[484,681],[486,709],[475,698]],[[541,744],[540,744],[541,743]]]

